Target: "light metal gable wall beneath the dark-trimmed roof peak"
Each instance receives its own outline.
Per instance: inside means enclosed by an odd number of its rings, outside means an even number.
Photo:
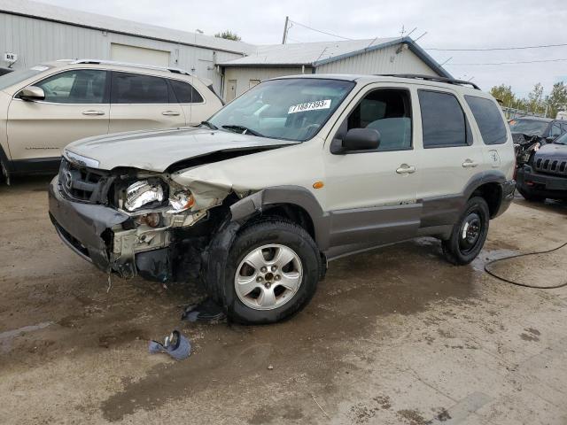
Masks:
[[[396,54],[400,44],[372,50],[316,67],[316,73],[421,73],[438,75],[411,50]]]

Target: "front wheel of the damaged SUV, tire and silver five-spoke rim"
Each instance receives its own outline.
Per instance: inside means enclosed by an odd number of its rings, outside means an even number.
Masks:
[[[269,219],[246,227],[232,244],[221,298],[232,321],[289,319],[313,297],[321,255],[304,228]]]

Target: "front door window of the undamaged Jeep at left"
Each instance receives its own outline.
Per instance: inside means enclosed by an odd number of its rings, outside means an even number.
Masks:
[[[44,102],[56,104],[104,104],[106,71],[76,69],[51,75],[35,86],[43,89]]]

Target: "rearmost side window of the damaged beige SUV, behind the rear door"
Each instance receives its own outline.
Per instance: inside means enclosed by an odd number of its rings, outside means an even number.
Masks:
[[[506,143],[506,126],[498,106],[490,99],[465,96],[472,115],[477,120],[478,129],[485,144]]]

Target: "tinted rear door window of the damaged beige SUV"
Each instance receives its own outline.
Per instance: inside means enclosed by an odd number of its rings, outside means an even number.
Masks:
[[[448,148],[472,143],[461,104],[451,93],[417,90],[422,112],[423,148]]]

